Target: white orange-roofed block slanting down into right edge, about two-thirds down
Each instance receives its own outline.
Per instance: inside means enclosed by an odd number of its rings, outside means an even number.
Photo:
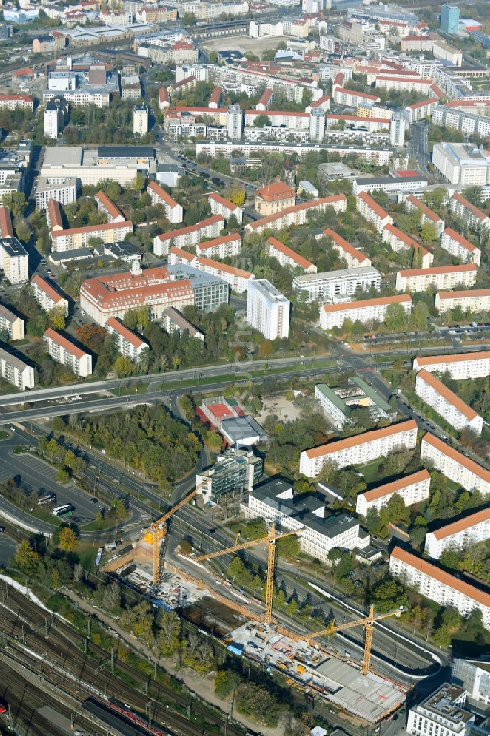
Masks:
[[[481,495],[490,493],[490,473],[457,450],[446,445],[433,434],[426,434],[420,449],[422,460],[430,462],[436,470],[458,483],[470,493],[477,488]]]

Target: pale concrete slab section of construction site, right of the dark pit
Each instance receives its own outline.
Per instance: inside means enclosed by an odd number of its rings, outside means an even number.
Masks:
[[[335,657],[323,648],[295,641],[274,625],[249,621],[226,638],[234,654],[244,654],[276,668],[286,683],[306,693],[318,693],[362,721],[377,723],[405,703],[408,690],[372,671],[363,675],[353,660]]]

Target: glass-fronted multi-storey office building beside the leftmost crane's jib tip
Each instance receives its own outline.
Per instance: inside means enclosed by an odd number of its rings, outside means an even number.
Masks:
[[[196,475],[198,495],[202,502],[219,503],[222,495],[234,497],[251,493],[263,473],[262,458],[252,450],[230,447],[218,455],[212,467]]]

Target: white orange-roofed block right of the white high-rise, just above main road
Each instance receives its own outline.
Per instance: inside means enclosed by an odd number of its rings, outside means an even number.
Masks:
[[[323,330],[331,330],[341,327],[346,319],[351,322],[359,320],[363,325],[366,323],[383,323],[386,318],[386,310],[390,304],[400,304],[408,315],[412,310],[412,299],[410,294],[397,294],[394,297],[377,297],[358,302],[341,302],[340,304],[327,304],[320,308],[320,327]]]

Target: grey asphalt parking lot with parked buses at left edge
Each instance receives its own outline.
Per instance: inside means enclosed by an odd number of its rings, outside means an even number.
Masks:
[[[73,481],[66,486],[60,485],[56,475],[56,468],[29,453],[11,454],[8,463],[2,463],[0,467],[0,482],[3,483],[12,477],[27,495],[32,491],[38,495],[55,493],[58,506],[72,503],[75,511],[72,512],[70,520],[80,526],[93,521],[96,513],[105,508],[103,503],[93,503],[92,497],[78,488]]]

